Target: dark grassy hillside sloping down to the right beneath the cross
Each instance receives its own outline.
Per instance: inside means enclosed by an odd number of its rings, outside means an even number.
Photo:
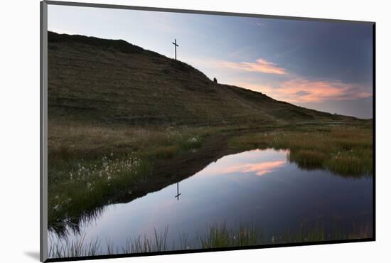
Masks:
[[[221,85],[122,40],[48,32],[50,122],[225,125],[352,120]]]

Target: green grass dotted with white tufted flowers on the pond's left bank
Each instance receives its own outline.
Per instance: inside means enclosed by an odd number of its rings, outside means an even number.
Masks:
[[[71,168],[66,170],[50,167],[53,176],[48,184],[48,220],[52,223],[87,216],[116,193],[146,180],[151,169],[148,161],[136,154],[124,154],[118,159],[103,156],[98,161],[71,161],[68,165]]]

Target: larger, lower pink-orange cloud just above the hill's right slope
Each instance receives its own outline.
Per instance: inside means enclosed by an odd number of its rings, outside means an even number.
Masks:
[[[343,83],[338,80],[308,80],[303,77],[286,80],[275,86],[252,83],[240,83],[240,86],[291,103],[357,100],[372,96],[363,85]]]

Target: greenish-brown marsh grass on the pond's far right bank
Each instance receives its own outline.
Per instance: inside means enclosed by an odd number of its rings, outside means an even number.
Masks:
[[[343,176],[373,173],[373,132],[369,124],[285,127],[236,136],[235,149],[289,149],[300,168],[324,168]]]

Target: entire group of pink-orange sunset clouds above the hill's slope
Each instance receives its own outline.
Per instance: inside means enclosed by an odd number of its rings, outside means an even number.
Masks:
[[[325,102],[328,100],[358,100],[372,96],[370,87],[346,83],[340,80],[316,80],[301,75],[289,73],[284,68],[279,68],[274,63],[259,58],[256,63],[232,63],[225,60],[192,60],[196,65],[212,68],[242,70],[249,72],[262,72],[269,74],[283,75],[284,80],[264,84],[267,77],[248,77],[238,73],[227,73],[228,83],[250,90],[262,92],[275,100],[282,100],[290,103]],[[262,80],[263,79],[263,80]],[[259,84],[260,83],[260,84]]]

